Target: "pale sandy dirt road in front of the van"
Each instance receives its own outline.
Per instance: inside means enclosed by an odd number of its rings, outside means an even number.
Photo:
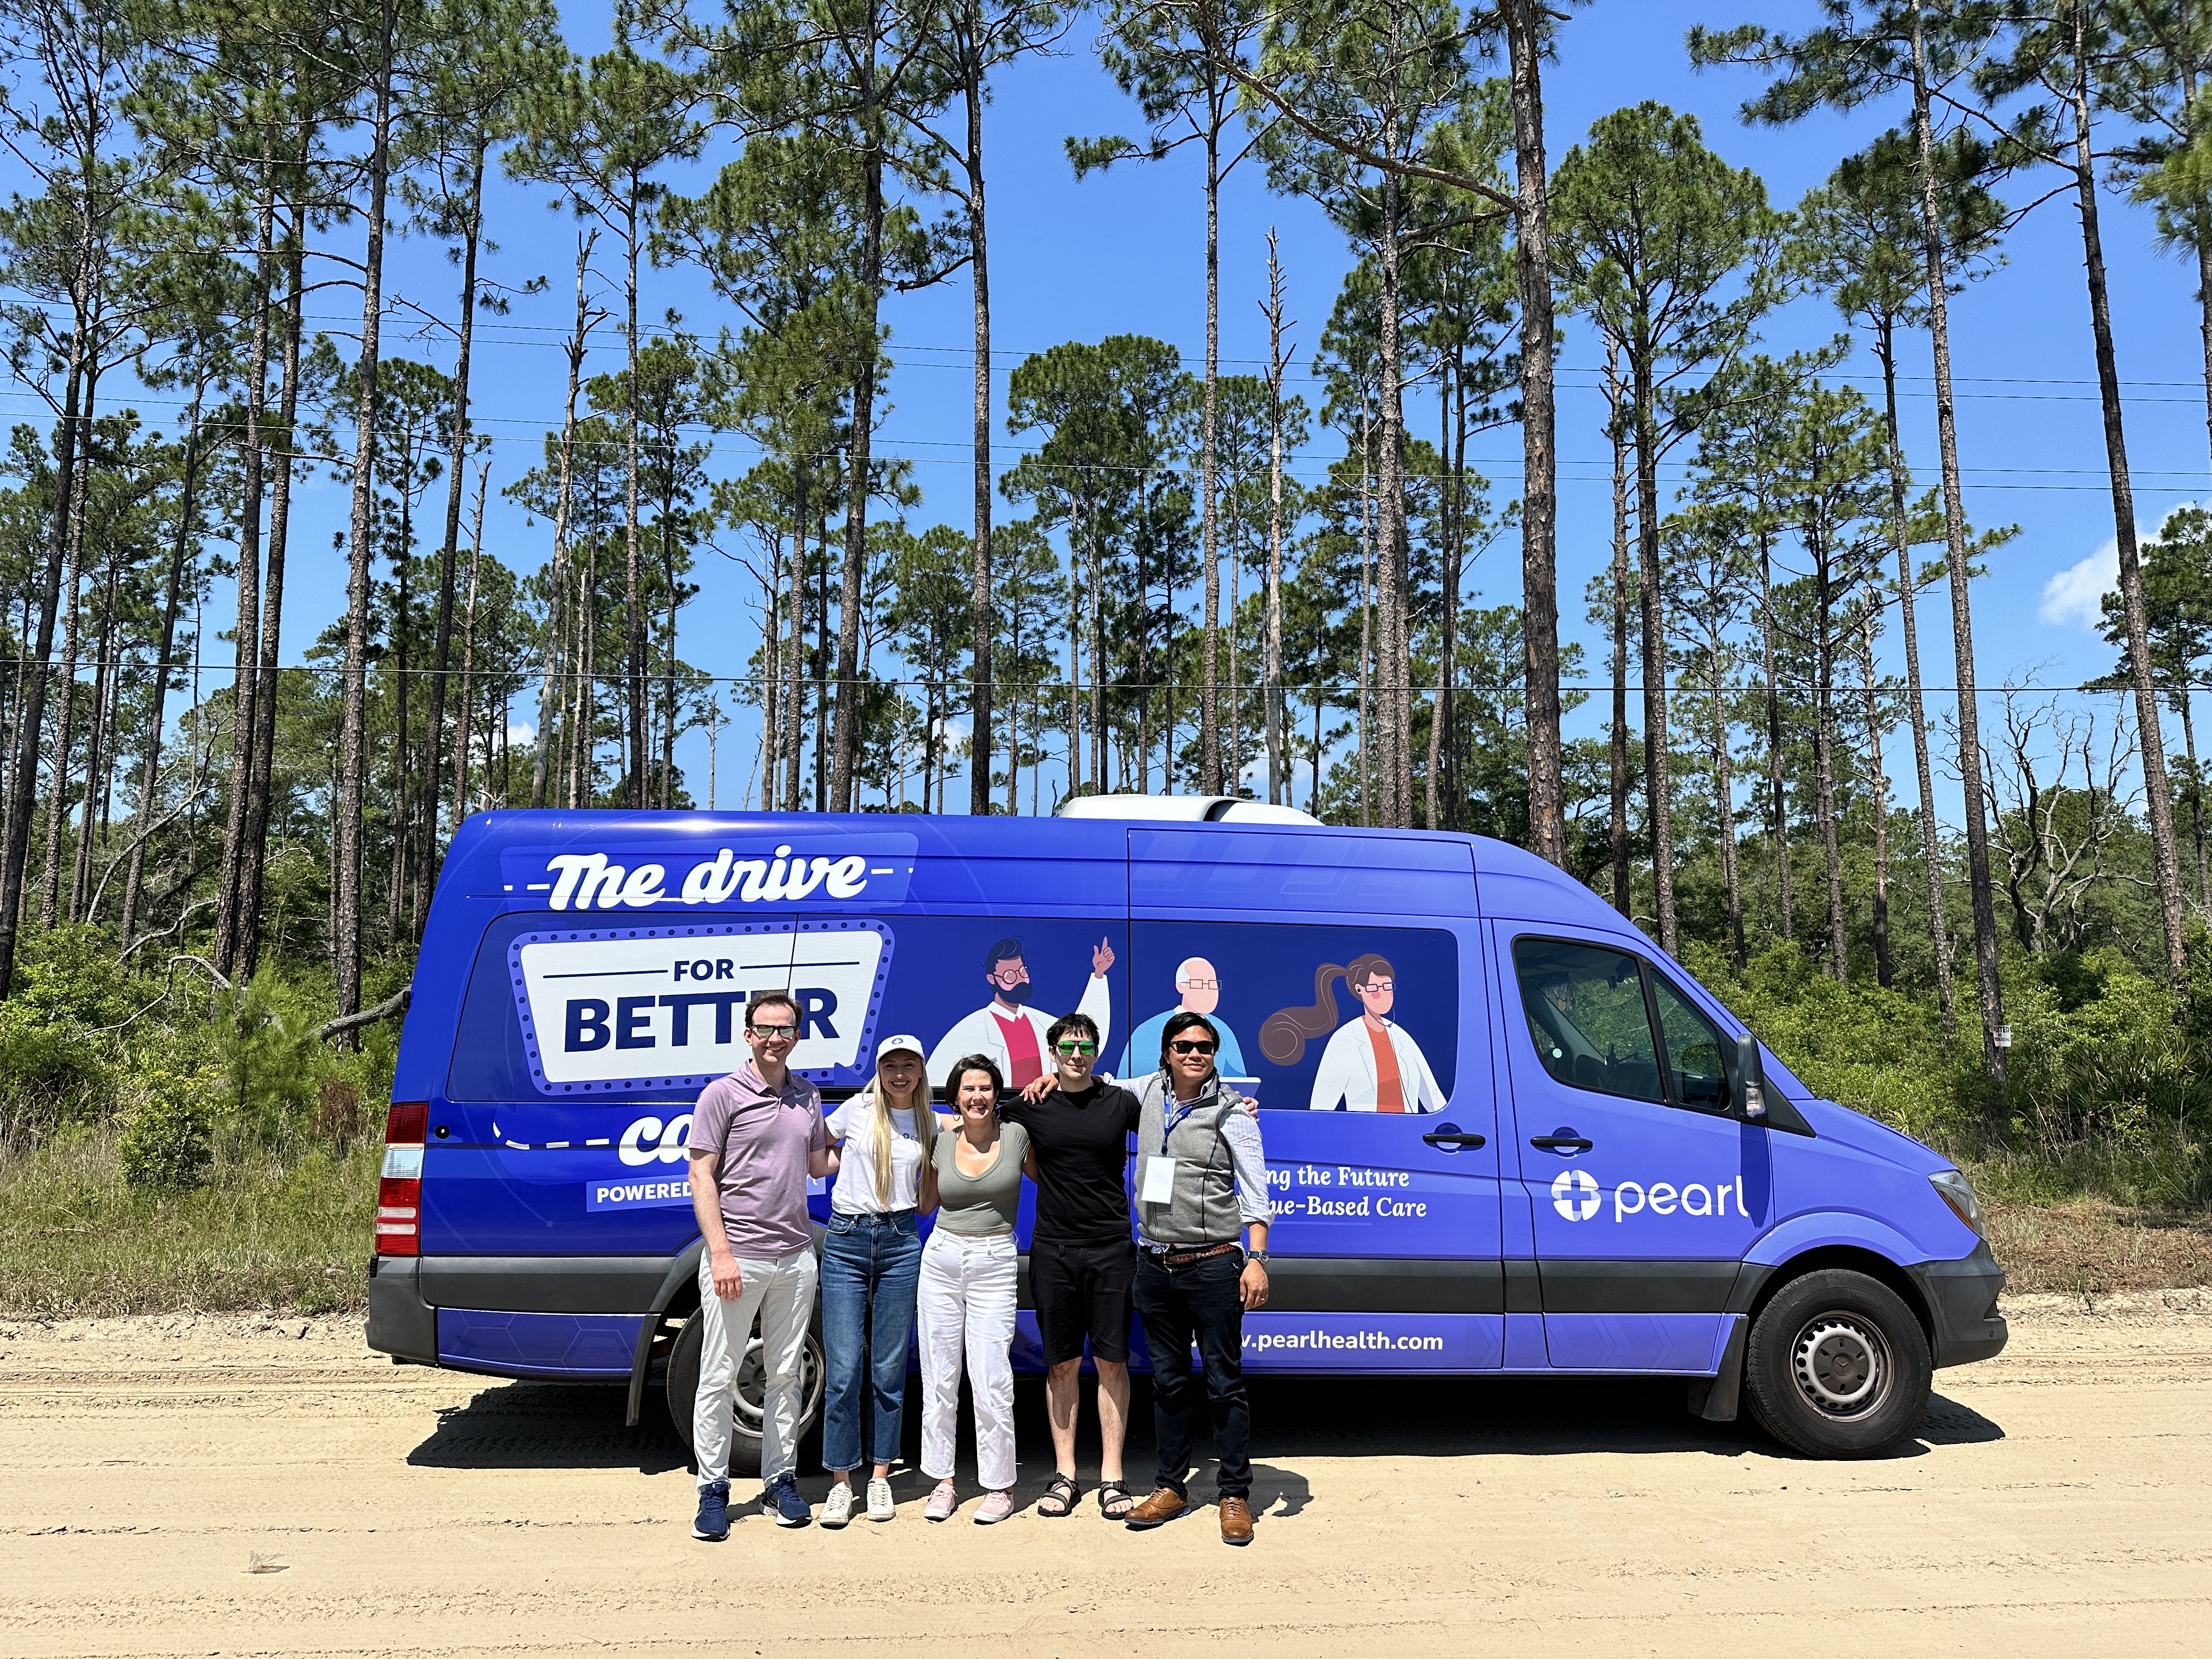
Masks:
[[[1679,1383],[1261,1383],[1248,1551],[1088,1491],[1040,1517],[1035,1385],[993,1531],[907,1473],[887,1526],[748,1504],[708,1546],[615,1391],[392,1367],[345,1321],[0,1323],[0,1652],[2212,1652],[2212,1298],[2008,1312],[1874,1464]]]

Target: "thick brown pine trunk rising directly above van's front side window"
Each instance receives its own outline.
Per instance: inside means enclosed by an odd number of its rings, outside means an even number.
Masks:
[[[1513,84],[1515,250],[1522,347],[1522,679],[1528,732],[1528,849],[1566,865],[1559,745],[1557,449],[1553,411],[1551,173],[1544,166],[1542,0],[1504,0]]]

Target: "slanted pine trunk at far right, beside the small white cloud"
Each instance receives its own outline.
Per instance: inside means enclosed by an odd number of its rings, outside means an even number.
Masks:
[[[2081,263],[2088,270],[2088,321],[2097,343],[2097,392],[2104,398],[2104,453],[2112,476],[2112,540],[2119,542],[2119,604],[2128,622],[2128,679],[2135,686],[2135,726],[2143,761],[2143,816],[2150,821],[2150,865],[2159,885],[2166,929],[2166,967],[2188,973],[2188,907],[2181,898],[2181,856],[2174,847],[2174,796],[2166,776],[2166,739],[2159,732],[2159,688],[2150,661],[2150,624],[2143,606],[2143,562],[2135,544],[2135,482],[2128,478],[2128,434],[2119,405],[2119,361],[2112,354],[2112,303],[2104,281],[2104,232],[2097,223],[2097,157],[2090,150],[2088,9],[2073,7],[2075,29],[2075,195],[2081,206]]]

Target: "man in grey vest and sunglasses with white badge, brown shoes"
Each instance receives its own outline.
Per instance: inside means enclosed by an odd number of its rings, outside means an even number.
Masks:
[[[1139,1091],[1137,1117],[1137,1314],[1152,1354],[1152,1438],[1159,1482],[1128,1513],[1133,1528],[1190,1509],[1190,1425],[1197,1380],[1219,1455],[1221,1542],[1252,1542],[1252,1411],[1243,1387],[1243,1316],[1267,1305],[1267,1161],[1259,1119],[1221,1088],[1221,1035],[1203,1013],[1181,1011],[1161,1033],[1161,1071]],[[1250,1252],[1241,1239],[1250,1234]]]

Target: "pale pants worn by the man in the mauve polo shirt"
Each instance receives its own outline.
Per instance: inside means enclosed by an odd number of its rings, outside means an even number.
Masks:
[[[692,1405],[692,1455],[699,1484],[730,1478],[730,1433],[737,1374],[761,1318],[761,1480],[799,1471],[799,1360],[814,1318],[814,1252],[737,1259],[743,1281],[734,1301],[714,1294],[714,1263],[699,1254],[699,1398]],[[1011,1303],[1009,1303],[1011,1307]]]

